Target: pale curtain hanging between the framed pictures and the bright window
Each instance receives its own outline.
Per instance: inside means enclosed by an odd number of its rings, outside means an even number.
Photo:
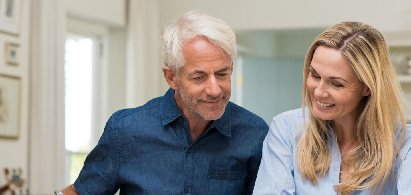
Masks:
[[[64,43],[65,1],[34,0],[30,64],[30,193],[65,187]]]

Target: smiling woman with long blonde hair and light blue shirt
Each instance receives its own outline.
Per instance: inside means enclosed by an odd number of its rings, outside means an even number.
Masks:
[[[327,29],[307,52],[303,109],[270,125],[253,194],[409,194],[403,97],[377,29]]]

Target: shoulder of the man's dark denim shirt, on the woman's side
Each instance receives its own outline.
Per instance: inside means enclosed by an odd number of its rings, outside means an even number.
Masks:
[[[233,102],[229,102],[229,105],[231,109],[231,116],[233,118],[237,118],[239,122],[249,123],[249,125],[256,125],[263,129],[268,129],[268,125],[263,118],[243,107],[238,106],[237,104],[234,104]]]

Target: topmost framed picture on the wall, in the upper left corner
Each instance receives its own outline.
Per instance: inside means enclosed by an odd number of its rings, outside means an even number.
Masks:
[[[0,31],[18,35],[23,0],[0,0]]]

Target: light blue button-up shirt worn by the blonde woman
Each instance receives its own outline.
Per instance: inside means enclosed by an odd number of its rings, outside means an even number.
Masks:
[[[307,116],[308,110],[306,109]],[[287,111],[274,117],[270,130],[263,143],[263,157],[256,179],[253,195],[337,195],[334,190],[335,185],[339,182],[339,168],[341,163],[341,155],[338,147],[335,147],[334,133],[330,126],[331,140],[328,142],[330,146],[330,154],[332,160],[330,169],[324,178],[319,179],[318,185],[312,185],[308,179],[303,181],[300,171],[298,170],[296,158],[297,141],[301,137],[301,133],[305,130],[303,126],[302,110],[296,109]],[[307,117],[305,117],[307,120]],[[329,121],[327,122],[329,123]],[[398,132],[401,132],[402,126],[398,127]],[[301,132],[299,132],[301,130]],[[407,125],[407,135],[404,144],[401,147],[397,156],[397,169],[395,170],[395,178],[391,185],[391,180],[384,185],[383,195],[409,195],[411,194],[411,125]],[[296,134],[298,134],[296,136]],[[402,134],[399,133],[398,141],[401,140]],[[404,164],[402,164],[404,163]],[[401,170],[402,168],[402,170]],[[397,180],[398,178],[398,180]],[[369,195],[371,190],[354,191],[353,195]]]

